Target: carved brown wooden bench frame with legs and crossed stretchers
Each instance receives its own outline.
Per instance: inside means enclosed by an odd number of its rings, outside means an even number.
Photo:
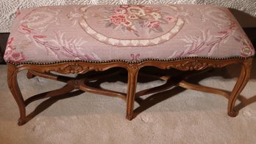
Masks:
[[[149,88],[143,91],[136,92],[138,73],[142,67],[158,67],[160,69],[179,69],[182,71],[189,70],[203,70],[207,68],[225,67],[230,64],[241,64],[241,75],[238,77],[232,91],[224,91],[218,88],[210,88],[207,86],[199,86],[192,83],[185,82],[187,77],[176,81],[176,83],[171,82],[170,77],[162,78],[166,80],[166,84],[163,86],[157,86],[155,88]],[[171,60],[158,60],[158,59],[148,59],[144,61],[58,61],[54,63],[21,63],[15,64],[7,62],[8,74],[7,81],[10,91],[12,92],[15,101],[18,104],[20,111],[20,118],[18,119],[18,125],[21,126],[29,121],[26,117],[26,106],[30,102],[37,99],[43,99],[49,96],[58,96],[60,94],[66,94],[74,89],[80,89],[82,91],[88,91],[95,94],[104,94],[107,96],[117,96],[127,103],[127,119],[132,120],[133,109],[135,98],[138,96],[143,96],[146,94],[152,94],[158,91],[164,91],[172,86],[180,86],[182,88],[189,88],[197,91],[205,91],[212,94],[219,94],[228,99],[228,115],[235,117],[238,112],[234,110],[235,101],[241,94],[244,86],[249,80],[249,74],[252,67],[252,58],[177,58]],[[90,71],[105,71],[113,67],[122,67],[127,69],[128,72],[128,82],[127,82],[127,94],[123,94],[117,91],[110,91],[102,88],[93,88],[86,85],[88,79],[86,77],[82,78],[68,78],[64,76],[54,75],[51,72],[59,72],[61,74],[85,74]],[[32,78],[35,76],[49,78],[51,80],[59,80],[67,83],[63,88],[48,91],[43,94],[38,94],[31,96],[24,100],[21,90],[18,86],[17,75],[18,72],[22,70],[28,70],[27,77]],[[96,77],[99,78],[99,77]]]

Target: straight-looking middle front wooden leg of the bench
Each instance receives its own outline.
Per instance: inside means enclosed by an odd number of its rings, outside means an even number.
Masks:
[[[138,66],[131,66],[128,69],[128,83],[127,83],[127,119],[129,121],[133,118],[133,108],[135,102],[135,93],[138,79]]]

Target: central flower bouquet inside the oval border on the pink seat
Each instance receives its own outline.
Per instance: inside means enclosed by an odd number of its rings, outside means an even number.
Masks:
[[[145,5],[120,5],[108,10],[109,15],[104,19],[105,27],[115,30],[129,31],[140,37],[143,29],[150,33],[163,32],[163,25],[173,24],[177,18],[159,8]],[[95,16],[93,16],[95,17]],[[100,22],[102,23],[102,21]],[[174,23],[175,24],[175,23]]]

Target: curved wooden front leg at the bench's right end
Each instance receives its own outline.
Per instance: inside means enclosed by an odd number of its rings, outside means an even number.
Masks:
[[[246,83],[249,80],[251,68],[252,68],[252,58],[244,60],[241,67],[241,74],[238,77],[238,81],[235,83],[235,87],[233,88],[230,94],[230,99],[228,102],[228,115],[230,115],[231,117],[235,117],[236,115],[238,115],[238,112],[234,110],[235,101],[238,98],[238,96],[241,94],[241,91],[246,86]]]

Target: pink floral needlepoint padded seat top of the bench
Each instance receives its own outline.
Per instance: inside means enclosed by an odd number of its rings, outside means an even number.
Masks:
[[[255,50],[231,12],[210,5],[77,5],[17,13],[7,62],[246,58]]]

